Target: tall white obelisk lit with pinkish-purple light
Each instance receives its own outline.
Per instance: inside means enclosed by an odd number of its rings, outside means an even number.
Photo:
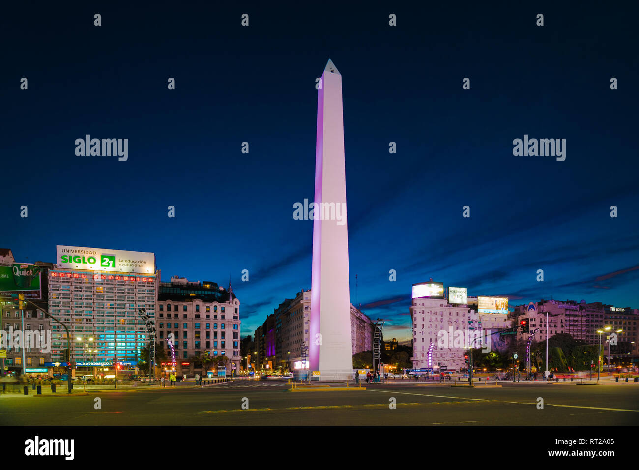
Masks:
[[[309,368],[319,380],[353,377],[342,75],[328,59],[318,89]],[[340,220],[330,217],[339,208]],[[318,377],[314,377],[317,379]]]

